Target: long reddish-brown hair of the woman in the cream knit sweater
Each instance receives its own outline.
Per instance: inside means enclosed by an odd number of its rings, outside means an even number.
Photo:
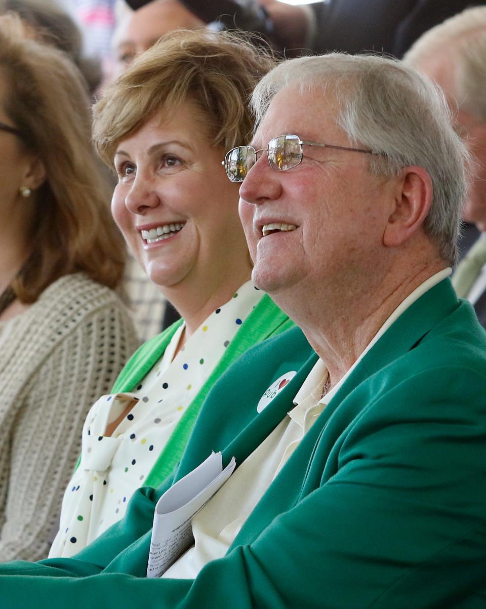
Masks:
[[[46,168],[35,191],[29,261],[13,283],[32,303],[53,281],[82,271],[118,285],[125,245],[111,219],[110,191],[90,141],[90,101],[77,68],[57,49],[30,40],[15,16],[0,17],[5,113]]]

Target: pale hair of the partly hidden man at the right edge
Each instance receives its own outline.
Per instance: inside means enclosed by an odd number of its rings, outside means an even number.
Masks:
[[[453,66],[457,104],[486,122],[486,7],[463,10],[424,33],[410,48],[404,62],[420,64],[442,54]]]

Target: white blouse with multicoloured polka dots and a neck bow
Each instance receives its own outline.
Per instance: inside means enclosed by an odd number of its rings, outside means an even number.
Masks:
[[[185,409],[264,295],[251,281],[216,309],[174,357],[177,329],[160,361],[131,393],[102,396],[86,418],[79,468],[66,488],[49,557],[70,557],[124,516]],[[127,406],[111,436],[107,425]]]

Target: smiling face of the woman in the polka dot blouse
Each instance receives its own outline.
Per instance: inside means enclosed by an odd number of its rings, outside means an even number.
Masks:
[[[248,265],[238,186],[228,181],[224,152],[211,146],[200,115],[189,102],[155,114],[118,144],[114,159],[113,217],[159,286],[195,278],[218,284],[224,269]]]

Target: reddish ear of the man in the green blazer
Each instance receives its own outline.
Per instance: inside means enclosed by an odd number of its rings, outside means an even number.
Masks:
[[[432,202],[432,180],[423,167],[410,166],[396,178],[395,203],[383,233],[383,244],[398,247],[418,230]]]

